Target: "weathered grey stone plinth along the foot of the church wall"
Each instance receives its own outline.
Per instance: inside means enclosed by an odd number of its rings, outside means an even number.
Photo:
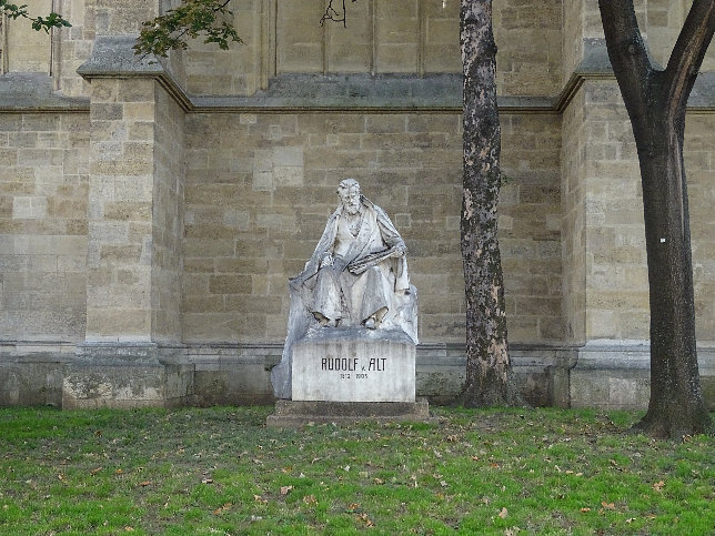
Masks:
[[[159,347],[158,363],[138,356],[99,350],[88,352],[85,344],[53,341],[0,342],[0,407],[70,407],[75,401],[83,407],[113,405],[241,405],[274,404],[270,371],[280,361],[282,344],[197,344]],[[92,353],[93,355],[88,355]],[[510,348],[515,381],[524,397],[534,406],[597,407],[625,409],[646,407],[648,402],[648,346],[598,341],[581,347]],[[703,395],[715,411],[715,344],[698,347]],[[180,365],[180,376],[172,367]],[[433,405],[450,404],[465,380],[463,345],[427,343],[417,346],[416,395]],[[87,367],[82,370],[82,367]],[[79,396],[70,382],[85,373],[108,373],[115,378],[120,396]],[[134,367],[148,367],[147,375]],[[164,367],[165,374],[159,368]],[[153,372],[152,372],[153,371]],[[140,388],[141,383],[158,392]],[[100,380],[99,376],[95,376]],[[137,377],[143,377],[139,383]],[[181,378],[179,381],[179,378]],[[90,378],[88,378],[90,380]],[[109,378],[108,378],[109,380]],[[177,383],[174,383],[174,380]],[[91,383],[91,382],[88,382]],[[103,381],[95,385],[99,388]],[[134,385],[132,398],[125,398],[122,385]],[[104,388],[101,390],[109,393]],[[144,391],[142,393],[142,391]],[[99,391],[97,392],[99,394]],[[77,406],[75,406],[77,407]]]

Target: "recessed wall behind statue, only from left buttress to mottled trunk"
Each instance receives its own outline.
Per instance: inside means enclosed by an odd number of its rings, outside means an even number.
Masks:
[[[454,114],[189,115],[184,341],[282,341],[349,176],[407,243],[424,335],[462,340],[460,148]]]

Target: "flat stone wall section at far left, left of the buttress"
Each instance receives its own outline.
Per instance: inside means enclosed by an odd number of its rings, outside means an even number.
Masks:
[[[0,332],[78,340],[85,322],[89,118],[0,114]]]

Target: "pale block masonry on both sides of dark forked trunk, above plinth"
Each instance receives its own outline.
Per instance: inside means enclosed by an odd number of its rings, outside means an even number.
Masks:
[[[648,338],[649,309],[641,176],[631,123],[613,80],[586,81],[564,112],[564,314],[574,342]],[[715,201],[712,125],[687,114],[688,174],[698,340],[712,341],[708,259]],[[583,316],[581,316],[583,315]],[[583,324],[581,322],[583,321]]]

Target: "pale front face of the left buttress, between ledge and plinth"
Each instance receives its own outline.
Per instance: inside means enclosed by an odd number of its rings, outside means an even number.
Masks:
[[[154,84],[92,81],[88,341],[151,337]]]

